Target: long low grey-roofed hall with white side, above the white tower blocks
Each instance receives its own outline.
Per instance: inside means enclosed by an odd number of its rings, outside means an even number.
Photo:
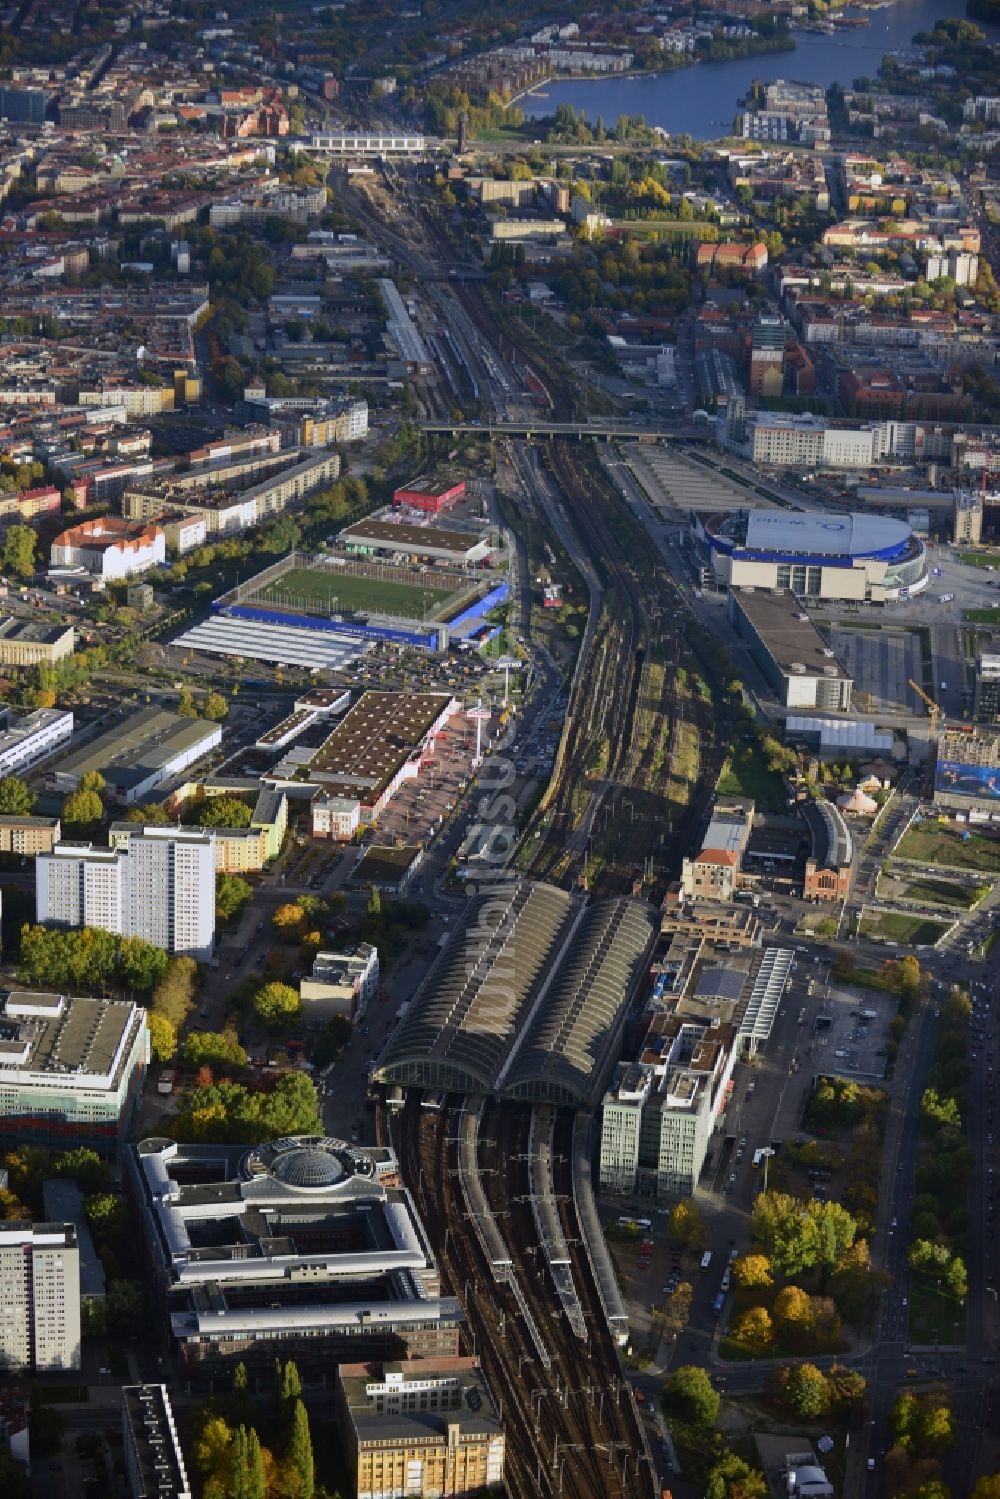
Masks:
[[[88,770],[99,770],[111,797],[130,806],[219,744],[220,724],[181,718],[162,708],[141,708],[60,760],[52,767],[52,788],[75,791]]]

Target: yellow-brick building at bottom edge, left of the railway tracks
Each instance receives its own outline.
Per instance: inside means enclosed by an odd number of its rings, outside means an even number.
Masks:
[[[504,1427],[478,1358],[340,1364],[336,1421],[364,1499],[459,1499],[504,1483]]]

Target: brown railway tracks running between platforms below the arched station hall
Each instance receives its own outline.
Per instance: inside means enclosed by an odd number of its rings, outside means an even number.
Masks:
[[[586,1345],[562,1312],[532,1222],[531,1111],[487,1103],[480,1127],[487,1159],[505,1163],[502,1171],[486,1169],[483,1186],[510,1249],[511,1274],[549,1352],[547,1369],[511,1288],[493,1282],[478,1240],[463,1226],[468,1210],[457,1175],[457,1109],[429,1112],[411,1100],[393,1121],[393,1136],[403,1178],[438,1253],[442,1291],[457,1295],[465,1309],[465,1351],[477,1354],[502,1403],[507,1492],[525,1499],[652,1499],[655,1480],[631,1393],[579,1246],[567,1147],[571,1117],[556,1121],[564,1159],[555,1163],[555,1183],[559,1211],[568,1214],[571,1268],[591,1334]]]

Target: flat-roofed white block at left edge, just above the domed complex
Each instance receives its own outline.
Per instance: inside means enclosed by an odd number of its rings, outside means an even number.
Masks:
[[[124,1000],[0,995],[0,1139],[114,1151],[148,1064],[145,1010]]]

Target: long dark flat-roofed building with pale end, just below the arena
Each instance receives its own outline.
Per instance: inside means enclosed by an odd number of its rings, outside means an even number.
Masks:
[[[795,594],[730,589],[727,613],[780,703],[850,712],[855,682]]]

